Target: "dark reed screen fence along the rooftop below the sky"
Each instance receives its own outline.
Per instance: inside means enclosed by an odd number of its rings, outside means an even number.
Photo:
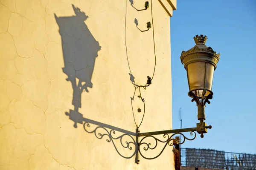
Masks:
[[[256,170],[256,154],[181,148],[181,166],[219,170]]]

